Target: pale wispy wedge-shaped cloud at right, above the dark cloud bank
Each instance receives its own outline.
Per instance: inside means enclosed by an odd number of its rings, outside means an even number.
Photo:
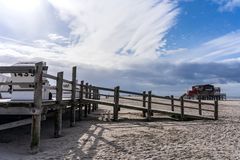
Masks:
[[[226,62],[239,61],[240,58],[240,30],[228,33],[203,43],[199,47],[179,50],[178,54],[167,57],[168,60],[175,59],[176,62]]]

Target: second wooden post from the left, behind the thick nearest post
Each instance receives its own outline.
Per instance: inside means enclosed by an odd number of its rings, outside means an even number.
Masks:
[[[56,89],[56,101],[57,111],[54,118],[54,137],[58,138],[62,132],[62,87],[63,87],[63,72],[57,74],[57,89]]]

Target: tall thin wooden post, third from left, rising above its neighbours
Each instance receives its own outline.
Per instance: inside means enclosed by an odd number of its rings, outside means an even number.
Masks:
[[[77,67],[72,68],[72,97],[71,97],[71,115],[70,115],[70,127],[75,126],[76,123],[76,77]]]

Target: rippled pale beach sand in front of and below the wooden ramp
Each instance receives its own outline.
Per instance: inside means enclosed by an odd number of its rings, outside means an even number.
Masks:
[[[240,101],[220,102],[218,121],[144,122],[141,112],[121,110],[120,122],[107,122],[101,107],[52,138],[51,119],[43,122],[41,151],[28,153],[30,126],[0,132],[0,160],[29,159],[240,159]],[[128,114],[128,112],[134,114]],[[97,118],[99,117],[100,118]],[[132,120],[130,120],[132,119]]]

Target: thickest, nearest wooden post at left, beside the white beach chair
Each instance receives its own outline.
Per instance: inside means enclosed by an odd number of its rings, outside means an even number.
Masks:
[[[39,62],[35,65],[35,77],[34,77],[34,108],[41,110],[42,108],[42,70],[43,63]],[[32,116],[31,126],[31,153],[37,153],[40,146],[40,134],[41,134],[41,113]]]

